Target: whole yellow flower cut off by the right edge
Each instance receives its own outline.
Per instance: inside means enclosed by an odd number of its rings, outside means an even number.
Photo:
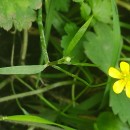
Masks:
[[[120,70],[110,67],[108,74],[118,79],[118,81],[113,84],[113,91],[119,94],[125,90],[126,96],[130,98],[130,65],[127,62],[121,62]]]

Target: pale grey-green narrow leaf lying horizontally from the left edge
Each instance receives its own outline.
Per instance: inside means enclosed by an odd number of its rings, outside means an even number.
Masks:
[[[36,74],[43,71],[47,65],[26,65],[0,68],[0,74]]]

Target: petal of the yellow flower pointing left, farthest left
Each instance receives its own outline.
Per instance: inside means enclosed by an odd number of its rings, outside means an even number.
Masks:
[[[109,68],[108,74],[109,74],[109,76],[116,78],[116,79],[122,78],[122,74],[120,73],[120,71],[115,69],[114,67]]]

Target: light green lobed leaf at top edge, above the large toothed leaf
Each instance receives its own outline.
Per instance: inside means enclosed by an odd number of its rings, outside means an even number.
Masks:
[[[104,23],[111,22],[111,1],[110,0],[88,0],[94,18]]]

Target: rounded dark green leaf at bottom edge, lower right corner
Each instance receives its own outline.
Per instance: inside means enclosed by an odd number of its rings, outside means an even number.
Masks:
[[[111,112],[104,112],[97,118],[95,130],[129,130],[129,128]]]

